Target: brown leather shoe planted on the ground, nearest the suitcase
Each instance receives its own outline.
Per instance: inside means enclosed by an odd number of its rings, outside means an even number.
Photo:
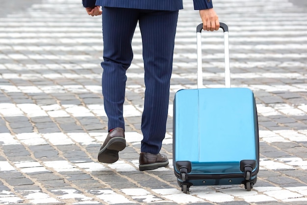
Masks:
[[[139,164],[140,171],[153,170],[159,167],[166,167],[168,165],[168,158],[160,153],[140,153]]]

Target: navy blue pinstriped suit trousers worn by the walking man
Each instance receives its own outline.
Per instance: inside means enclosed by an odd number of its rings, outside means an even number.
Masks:
[[[133,52],[131,40],[139,22],[145,70],[141,152],[158,154],[166,132],[178,11],[102,8],[102,94],[108,129],[124,128],[126,71]]]

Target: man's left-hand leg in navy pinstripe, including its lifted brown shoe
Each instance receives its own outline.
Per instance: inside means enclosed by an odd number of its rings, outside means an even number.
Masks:
[[[126,147],[123,106],[126,89],[126,70],[133,53],[131,40],[137,24],[137,14],[132,9],[102,8],[103,68],[102,94],[104,110],[111,130],[98,154],[104,163],[116,162],[118,152]]]

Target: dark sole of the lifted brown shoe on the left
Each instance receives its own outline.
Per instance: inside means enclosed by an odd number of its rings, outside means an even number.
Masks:
[[[118,160],[118,153],[126,148],[126,140],[123,137],[113,137],[99,151],[98,161],[102,163],[114,163]]]

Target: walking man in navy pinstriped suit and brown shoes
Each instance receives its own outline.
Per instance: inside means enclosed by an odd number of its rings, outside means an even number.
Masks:
[[[168,158],[159,152],[166,132],[175,34],[182,0],[82,0],[82,3],[89,15],[102,14],[102,94],[109,132],[98,160],[116,162],[118,153],[126,147],[123,118],[126,71],[133,58],[131,40],[139,23],[146,87],[139,169],[167,166]],[[194,0],[194,8],[200,10],[204,30],[219,29],[211,0]]]

